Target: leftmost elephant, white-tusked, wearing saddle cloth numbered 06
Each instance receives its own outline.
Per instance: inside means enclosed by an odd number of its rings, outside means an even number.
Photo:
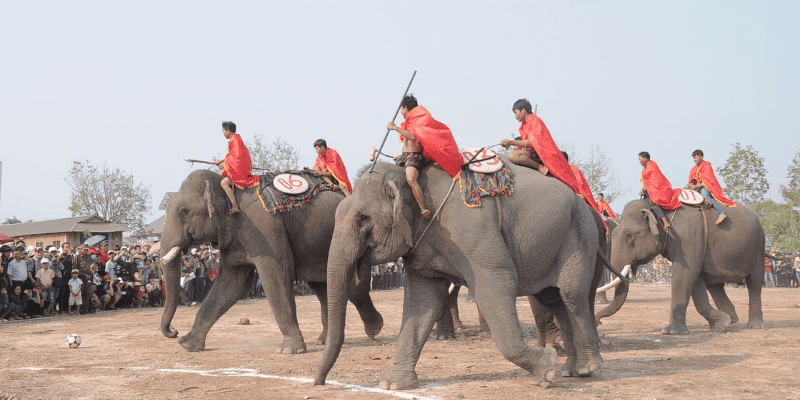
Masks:
[[[278,353],[306,351],[297,322],[293,282],[306,281],[321,304],[322,334],[327,338],[328,251],[333,236],[334,213],[344,199],[340,192],[320,191],[303,209],[270,214],[262,207],[257,189],[236,190],[242,205],[239,214],[228,215],[222,177],[207,170],[194,171],[172,196],[167,206],[161,241],[166,304],[161,331],[170,338],[178,332],[170,326],[179,302],[180,253],[190,246],[211,242],[220,250],[220,272],[197,311],[191,331],[178,339],[189,351],[205,349],[214,323],[247,293],[258,269],[264,292],[275,315],[283,342]],[[348,298],[358,309],[370,337],[383,327],[383,318],[372,304],[369,282],[351,287]]]

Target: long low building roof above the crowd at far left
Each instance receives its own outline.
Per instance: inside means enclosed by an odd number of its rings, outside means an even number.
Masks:
[[[111,222],[96,215],[81,217],[51,219],[48,221],[27,222],[23,224],[0,225],[0,232],[11,237],[42,235],[47,233],[83,232],[92,233],[124,232],[128,231],[127,225]]]

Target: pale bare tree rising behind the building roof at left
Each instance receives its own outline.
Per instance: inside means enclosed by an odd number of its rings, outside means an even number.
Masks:
[[[106,165],[98,168],[88,160],[73,161],[64,180],[72,188],[72,216],[97,215],[134,230],[144,228],[152,201],[150,187],[136,184],[133,175]]]

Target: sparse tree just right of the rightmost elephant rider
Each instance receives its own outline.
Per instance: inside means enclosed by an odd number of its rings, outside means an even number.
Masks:
[[[731,146],[731,155],[719,170],[727,184],[724,190],[726,197],[746,206],[763,201],[764,194],[769,190],[764,158],[758,155],[753,146],[742,147],[739,143]]]

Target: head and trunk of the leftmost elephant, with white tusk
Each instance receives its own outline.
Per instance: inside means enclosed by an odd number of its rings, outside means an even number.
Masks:
[[[178,307],[182,252],[189,246],[211,242],[224,248],[231,242],[225,192],[220,187],[222,178],[211,171],[192,172],[172,196],[167,206],[166,222],[161,238],[166,302],[161,316],[161,332],[167,337],[177,337],[170,323]],[[228,228],[228,229],[226,229]]]

